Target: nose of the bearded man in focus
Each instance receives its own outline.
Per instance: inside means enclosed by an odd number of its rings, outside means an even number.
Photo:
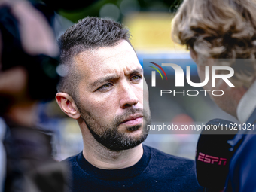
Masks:
[[[137,105],[139,102],[136,96],[136,88],[133,87],[129,82],[121,85],[120,88],[120,108],[128,108],[133,105]]]

